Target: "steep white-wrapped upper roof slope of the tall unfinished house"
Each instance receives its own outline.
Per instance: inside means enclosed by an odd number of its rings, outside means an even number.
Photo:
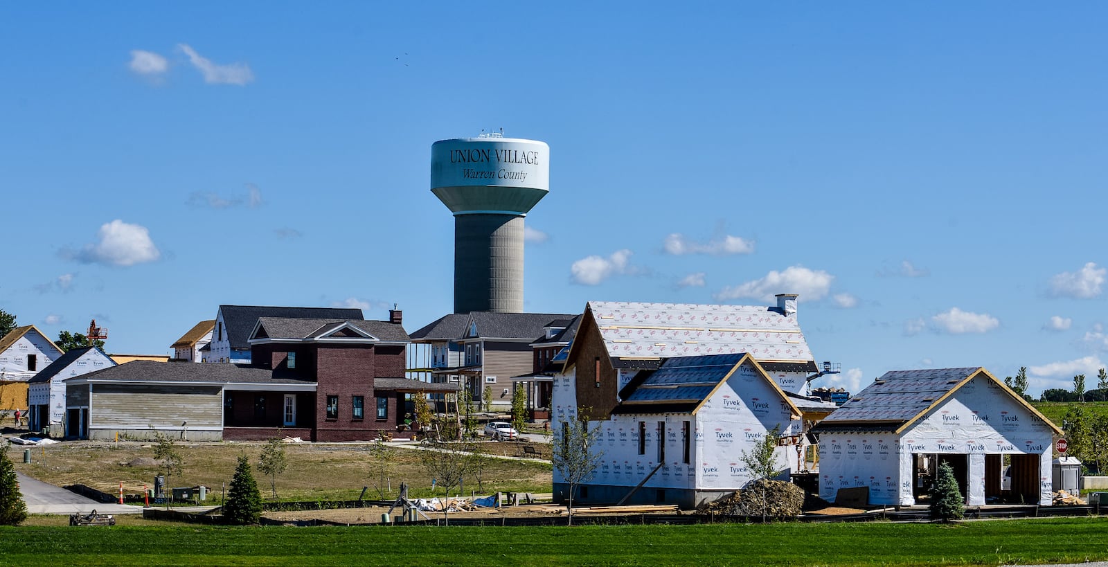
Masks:
[[[777,307],[589,301],[585,312],[613,359],[745,352],[759,362],[815,360],[796,313]]]

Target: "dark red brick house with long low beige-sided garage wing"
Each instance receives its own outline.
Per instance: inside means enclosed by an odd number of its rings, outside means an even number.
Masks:
[[[371,441],[403,427],[420,393],[453,392],[404,375],[408,333],[389,321],[261,317],[250,364],[132,362],[66,383],[72,436]]]

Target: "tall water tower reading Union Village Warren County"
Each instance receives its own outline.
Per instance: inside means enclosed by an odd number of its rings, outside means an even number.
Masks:
[[[523,217],[550,192],[550,146],[501,134],[441,140],[431,192],[454,214],[454,312],[523,312]]]

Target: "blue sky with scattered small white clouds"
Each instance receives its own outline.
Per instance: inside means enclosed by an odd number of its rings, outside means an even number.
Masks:
[[[551,146],[526,308],[799,292],[851,388],[1108,361],[1099,4],[0,4],[0,308],[452,308],[437,140]]]

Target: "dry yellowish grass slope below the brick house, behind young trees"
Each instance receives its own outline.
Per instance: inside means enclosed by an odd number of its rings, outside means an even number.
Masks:
[[[407,482],[412,496],[430,496],[431,477],[420,464],[419,452],[386,447],[384,482],[381,482],[381,460],[371,444],[286,444],[288,468],[277,476],[277,497],[281,501],[355,499],[368,486],[366,498],[391,499],[400,483]],[[516,455],[514,443],[482,443],[492,454]],[[193,443],[179,444],[184,456],[184,473],[173,476],[173,486],[208,486],[216,497],[224,483],[230,484],[235,460],[245,453],[255,467],[261,495],[270,496],[269,477],[257,471],[263,443]],[[157,474],[150,443],[66,442],[31,449],[32,463],[24,464],[22,449],[9,453],[17,471],[59,486],[84,484],[115,494],[123,483],[127,494],[141,494],[143,485],[152,487]],[[548,453],[548,446],[546,447]],[[389,491],[391,482],[391,491]],[[481,477],[485,494],[502,492],[550,492],[551,465],[504,458],[486,460]],[[456,489],[456,487],[455,487]],[[478,489],[475,478],[465,480],[465,492]],[[442,491],[438,491],[442,495]]]

